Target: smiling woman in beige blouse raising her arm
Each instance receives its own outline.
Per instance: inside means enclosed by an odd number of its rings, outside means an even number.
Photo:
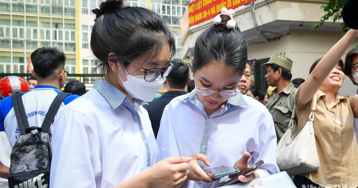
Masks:
[[[300,130],[308,121],[314,95],[317,97],[313,122],[318,170],[296,176],[296,187],[302,185],[358,186],[358,148],[354,134],[354,117],[358,117],[357,95],[337,95],[344,81],[340,57],[358,37],[350,30],[325,56],[313,64],[313,71],[295,93],[296,114]]]

